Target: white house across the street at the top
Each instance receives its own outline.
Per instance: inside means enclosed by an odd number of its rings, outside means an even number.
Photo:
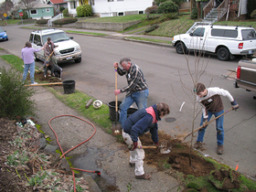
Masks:
[[[69,14],[77,15],[80,5],[91,5],[93,16],[127,16],[144,14],[144,10],[153,5],[154,0],[77,0],[67,2]]]

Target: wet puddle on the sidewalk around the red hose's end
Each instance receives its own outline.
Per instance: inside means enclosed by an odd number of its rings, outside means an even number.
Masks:
[[[88,148],[86,154],[76,155],[70,159],[71,164],[79,169],[89,170],[89,171],[100,171],[101,176],[96,173],[84,172],[91,176],[93,180],[97,183],[98,187],[101,188],[102,192],[115,191],[115,178],[108,176],[102,169],[101,161],[108,156],[113,155],[111,151],[103,151],[97,147]]]

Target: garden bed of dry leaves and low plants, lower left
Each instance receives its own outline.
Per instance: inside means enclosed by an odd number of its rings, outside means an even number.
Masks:
[[[59,158],[39,149],[42,133],[37,128],[5,118],[0,122],[0,191],[73,190],[73,176],[59,166]],[[83,177],[76,178],[76,187],[89,188]]]

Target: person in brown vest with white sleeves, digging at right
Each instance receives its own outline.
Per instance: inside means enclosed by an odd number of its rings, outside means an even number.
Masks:
[[[202,117],[200,126],[203,125],[198,131],[197,142],[193,145],[194,148],[199,148],[203,144],[204,135],[206,132],[208,121],[214,114],[216,117],[224,112],[223,102],[220,96],[225,96],[231,102],[233,110],[239,109],[239,104],[235,101],[232,95],[227,90],[220,89],[218,87],[206,88],[203,83],[198,82],[194,92],[197,94],[197,101],[202,105]],[[223,154],[223,144],[224,144],[224,115],[216,119],[216,131],[217,131],[217,154]]]

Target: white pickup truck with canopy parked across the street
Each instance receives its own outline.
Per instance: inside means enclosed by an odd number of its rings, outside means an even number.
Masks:
[[[192,33],[173,37],[179,54],[192,51],[215,53],[219,60],[256,52],[256,32],[253,27],[197,26]]]

